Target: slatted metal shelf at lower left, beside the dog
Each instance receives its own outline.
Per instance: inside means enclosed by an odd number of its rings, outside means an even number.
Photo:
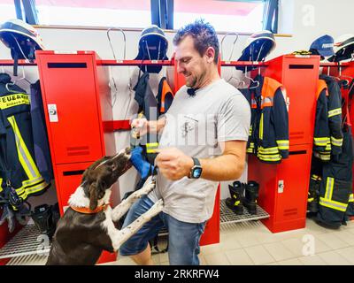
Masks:
[[[12,240],[0,249],[0,258],[27,255],[46,256],[50,252],[50,242],[43,241],[44,237],[46,235],[39,233],[34,224],[24,226]]]

